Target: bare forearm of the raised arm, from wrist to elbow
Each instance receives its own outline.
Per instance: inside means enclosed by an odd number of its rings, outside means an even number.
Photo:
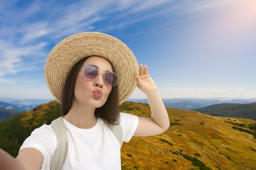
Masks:
[[[162,129],[168,129],[170,126],[169,116],[158,92],[148,93],[147,98],[151,109],[152,120]]]

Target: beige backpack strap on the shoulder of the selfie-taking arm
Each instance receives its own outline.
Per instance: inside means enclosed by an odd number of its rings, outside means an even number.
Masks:
[[[64,126],[62,116],[53,120],[53,131],[57,138],[57,147],[51,159],[51,170],[60,170],[66,160],[68,139],[66,135],[66,127]]]

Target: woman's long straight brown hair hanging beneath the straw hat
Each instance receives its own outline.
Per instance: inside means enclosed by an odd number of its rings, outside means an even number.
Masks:
[[[77,78],[77,74],[81,71],[81,67],[87,58],[83,58],[78,61],[74,67],[72,67],[68,77],[66,78],[66,82],[64,84],[64,89],[62,92],[62,104],[61,111],[62,116],[68,114],[69,110],[72,107],[73,99],[74,99],[74,88],[75,88],[75,80]],[[112,65],[112,63],[110,62]],[[112,65],[112,69],[115,72],[115,68]],[[118,97],[118,84],[112,87],[110,94],[108,95],[108,99],[102,105],[102,107],[96,108],[95,117],[102,118],[106,120],[109,124],[117,124],[117,118],[119,118],[119,97]]]

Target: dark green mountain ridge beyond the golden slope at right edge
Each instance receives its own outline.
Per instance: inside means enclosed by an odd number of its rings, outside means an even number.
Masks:
[[[249,104],[223,103],[194,110],[213,116],[249,118],[256,120],[256,102]]]

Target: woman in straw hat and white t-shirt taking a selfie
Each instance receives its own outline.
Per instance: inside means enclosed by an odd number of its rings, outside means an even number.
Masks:
[[[121,144],[107,124],[119,124],[125,142],[133,135],[158,135],[169,127],[148,68],[137,67],[133,52],[103,33],[78,33],[54,46],[45,63],[45,78],[62,104],[68,139],[62,169],[121,169]],[[119,104],[136,85],[148,98],[151,118],[119,113]],[[16,160],[24,169],[50,169],[56,145],[52,126],[43,125],[24,141]]]

